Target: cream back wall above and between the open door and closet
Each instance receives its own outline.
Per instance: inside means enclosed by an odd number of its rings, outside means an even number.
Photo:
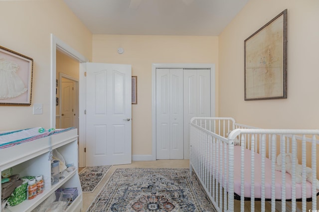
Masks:
[[[123,54],[117,53],[119,47],[124,48]],[[138,76],[132,155],[151,155],[152,63],[214,63],[218,70],[218,37],[93,35],[93,62],[132,65],[132,75]]]

